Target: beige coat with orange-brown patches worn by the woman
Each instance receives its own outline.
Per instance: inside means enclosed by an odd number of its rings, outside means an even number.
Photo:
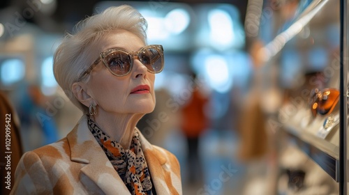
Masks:
[[[140,142],[156,193],[182,194],[179,163],[172,153]],[[130,194],[83,116],[60,141],[25,153],[11,194]]]

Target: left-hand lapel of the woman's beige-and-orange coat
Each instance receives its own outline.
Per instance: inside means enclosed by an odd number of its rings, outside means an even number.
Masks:
[[[105,194],[130,194],[94,135],[89,131],[86,116],[82,116],[74,130],[67,135],[67,139],[71,161],[86,164],[80,169],[83,173],[80,176],[81,182],[85,186],[95,184]]]

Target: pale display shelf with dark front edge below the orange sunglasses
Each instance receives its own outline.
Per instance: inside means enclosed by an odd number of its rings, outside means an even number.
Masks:
[[[336,182],[339,182],[339,123],[329,128],[329,134],[321,137],[318,132],[329,116],[309,117],[309,109],[299,109],[283,126],[290,142],[294,143],[318,164]],[[338,112],[335,114],[338,116]],[[347,161],[349,165],[349,162]],[[348,173],[347,173],[348,174]],[[349,176],[349,174],[348,174]]]

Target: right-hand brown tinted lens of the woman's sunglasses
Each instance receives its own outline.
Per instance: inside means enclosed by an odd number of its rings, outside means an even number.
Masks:
[[[163,55],[157,49],[152,47],[145,48],[138,54],[140,62],[144,64],[151,73],[158,73],[163,70],[162,56]]]

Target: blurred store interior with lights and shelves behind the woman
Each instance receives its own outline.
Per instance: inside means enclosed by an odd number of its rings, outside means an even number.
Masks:
[[[64,33],[122,4],[164,48],[155,110],[137,127],[176,155],[183,194],[341,192],[339,1],[1,1],[0,90],[22,153],[82,116],[52,72]]]

